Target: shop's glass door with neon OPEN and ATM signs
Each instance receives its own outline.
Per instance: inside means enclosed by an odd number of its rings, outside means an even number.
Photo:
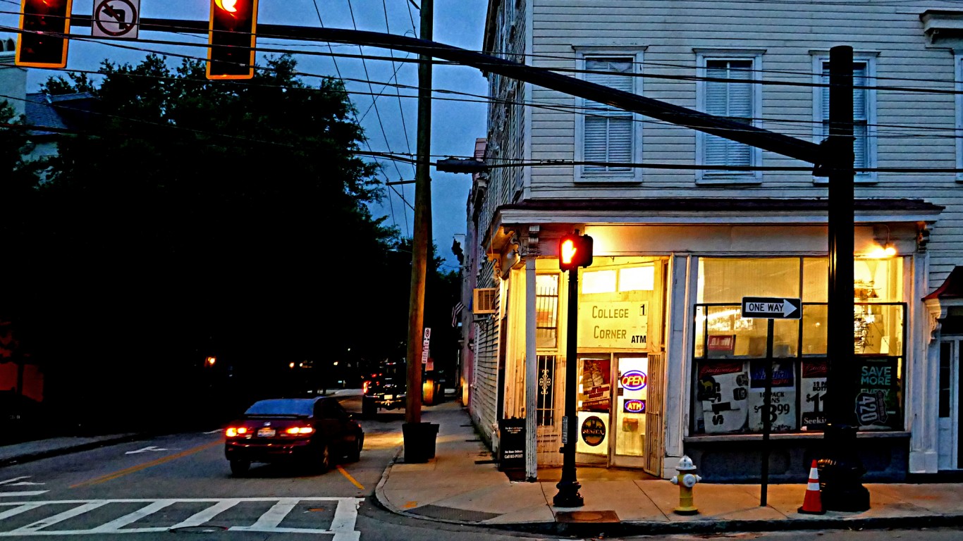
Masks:
[[[617,381],[612,404],[612,427],[615,434],[612,465],[641,467],[645,458],[648,357],[619,357],[617,363]]]

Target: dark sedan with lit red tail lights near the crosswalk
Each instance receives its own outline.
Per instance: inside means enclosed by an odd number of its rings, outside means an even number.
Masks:
[[[258,400],[224,430],[235,476],[255,462],[299,463],[320,473],[334,460],[361,458],[364,430],[333,397]]]

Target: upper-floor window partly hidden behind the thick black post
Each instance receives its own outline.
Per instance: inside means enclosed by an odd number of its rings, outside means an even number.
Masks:
[[[817,83],[829,84],[829,59],[820,57],[816,61]],[[852,133],[856,140],[853,142],[855,159],[853,167],[875,167],[876,141],[873,129],[876,116],[876,92],[867,87],[873,86],[875,68],[870,57],[856,56],[852,64]],[[862,88],[861,88],[862,87]],[[814,89],[814,120],[816,142],[829,137],[829,89],[816,87]],[[817,177],[825,182],[825,177]],[[874,182],[876,173],[857,172],[856,182]]]

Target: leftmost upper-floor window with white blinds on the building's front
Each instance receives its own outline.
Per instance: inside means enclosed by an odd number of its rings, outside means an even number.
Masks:
[[[638,62],[635,54],[580,55],[586,81],[633,93],[640,86],[634,77]],[[577,180],[641,180],[641,169],[624,165],[639,160],[641,131],[635,115],[611,105],[579,101],[583,109],[576,122],[576,161],[596,164],[578,167]]]

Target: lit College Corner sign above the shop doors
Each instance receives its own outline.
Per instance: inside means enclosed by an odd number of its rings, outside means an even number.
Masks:
[[[648,301],[579,304],[579,348],[647,349]]]

